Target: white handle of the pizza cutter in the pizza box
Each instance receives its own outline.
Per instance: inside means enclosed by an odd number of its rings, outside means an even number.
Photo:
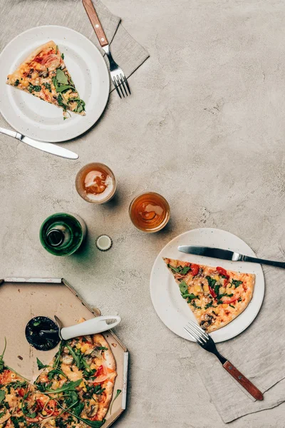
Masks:
[[[118,325],[119,322],[120,317],[117,315],[92,318],[91,320],[71,325],[71,327],[63,327],[61,329],[61,338],[68,340],[78,336],[95,335],[96,333],[110,330]]]

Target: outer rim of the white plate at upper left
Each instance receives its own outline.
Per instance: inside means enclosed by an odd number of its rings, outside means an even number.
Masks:
[[[23,36],[24,34],[27,34],[29,32],[33,32],[33,31],[37,31],[37,30],[41,30],[41,29],[47,29],[47,28],[56,28],[56,29],[63,29],[63,30],[68,30],[71,31],[75,34],[79,34],[79,36],[83,37],[83,39],[86,39],[86,42],[93,47],[93,49],[95,49],[96,51],[98,51],[98,54],[100,54],[100,60],[101,63],[103,64],[103,68],[105,68],[105,72],[106,72],[106,85],[108,86],[108,91],[106,91],[106,95],[105,95],[105,99],[103,102],[103,106],[100,109],[100,114],[98,116],[97,119],[95,119],[95,121],[93,121],[92,123],[87,123],[86,127],[81,129],[81,131],[74,133],[74,135],[72,136],[68,136],[68,138],[35,138],[35,136],[33,136],[31,133],[29,133],[28,131],[25,131],[25,133],[23,134],[24,136],[27,136],[29,138],[32,138],[33,140],[38,140],[38,141],[43,141],[46,143],[63,143],[64,141],[70,141],[73,140],[74,138],[77,138],[81,135],[83,135],[84,133],[86,133],[90,128],[92,128],[95,123],[100,119],[100,117],[103,114],[103,111],[105,110],[107,103],[108,103],[108,98],[110,96],[110,78],[109,78],[109,71],[108,71],[108,66],[105,63],[105,60],[103,58],[103,55],[100,53],[100,50],[98,49],[97,46],[95,46],[95,44],[93,44],[92,41],[90,41],[90,39],[88,39],[86,36],[84,36],[84,34],[80,33],[79,31],[73,30],[69,27],[66,26],[61,26],[61,25],[53,25],[53,24],[48,24],[48,25],[41,25],[41,26],[33,26],[30,29],[26,29],[25,31],[22,31],[20,34],[17,34],[16,36],[14,36],[13,39],[11,39],[8,44],[6,44],[6,46],[4,46],[4,49],[2,49],[1,53],[0,53],[0,61],[1,61],[1,57],[3,54],[6,53],[7,50],[9,50],[9,46],[11,46],[11,44],[14,43],[14,41],[16,41],[16,39],[19,39],[20,36]],[[17,126],[14,126],[14,123],[11,123],[11,121],[6,117],[6,114],[3,113],[3,109],[1,108],[1,103],[0,103],[0,113],[3,116],[3,118],[5,119],[5,121],[7,123],[9,123],[9,125],[11,126],[11,128],[13,128],[14,131],[17,131],[19,133],[21,133],[21,131],[19,131],[19,128],[17,128]],[[54,131],[54,135],[57,135],[56,130]]]

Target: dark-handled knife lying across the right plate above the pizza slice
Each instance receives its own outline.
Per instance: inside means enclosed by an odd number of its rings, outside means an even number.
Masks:
[[[232,262],[250,262],[259,263],[261,265],[271,265],[282,267],[285,269],[284,262],[275,262],[274,260],[264,260],[249,255],[239,254],[230,250],[222,250],[222,248],[198,247],[195,245],[180,245],[178,250],[182,253],[204,255],[205,257],[219,258],[223,260],[232,260]]]

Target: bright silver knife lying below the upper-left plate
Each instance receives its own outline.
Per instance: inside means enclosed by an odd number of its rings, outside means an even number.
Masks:
[[[61,156],[61,158],[78,159],[79,157],[76,153],[68,150],[67,148],[56,146],[56,144],[52,143],[43,143],[43,141],[32,140],[32,138],[25,137],[21,133],[11,131],[10,129],[0,128],[0,132],[6,134],[6,136],[14,137],[22,143],[28,144],[28,146],[38,148],[38,150],[51,153],[52,155]]]

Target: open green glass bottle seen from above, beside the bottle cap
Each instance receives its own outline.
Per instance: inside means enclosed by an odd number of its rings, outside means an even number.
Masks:
[[[41,225],[43,248],[53,255],[71,255],[78,250],[86,236],[86,224],[76,214],[56,213]]]

